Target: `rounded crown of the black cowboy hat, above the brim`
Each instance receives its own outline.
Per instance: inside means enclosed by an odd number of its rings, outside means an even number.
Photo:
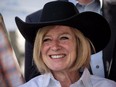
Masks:
[[[73,3],[53,1],[44,5],[40,22],[63,20],[77,15],[78,13]]]

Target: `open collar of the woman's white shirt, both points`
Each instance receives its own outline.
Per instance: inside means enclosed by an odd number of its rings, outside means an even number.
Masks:
[[[57,84],[57,87],[60,86],[59,81],[57,81],[51,73],[44,74],[44,87],[50,87],[53,84]],[[91,83],[91,75],[87,68],[84,69],[81,78],[71,85],[71,87],[75,87],[77,85],[83,85],[83,87],[92,87]]]

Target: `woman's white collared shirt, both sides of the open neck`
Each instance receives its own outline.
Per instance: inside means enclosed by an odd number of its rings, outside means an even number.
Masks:
[[[19,87],[61,87],[61,85],[51,73],[47,73],[31,79]],[[116,87],[116,82],[90,75],[88,69],[85,68],[81,78],[70,87]]]

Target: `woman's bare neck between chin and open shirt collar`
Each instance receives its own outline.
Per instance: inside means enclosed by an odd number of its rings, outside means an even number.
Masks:
[[[79,72],[53,72],[53,75],[62,87],[69,87],[80,78]]]

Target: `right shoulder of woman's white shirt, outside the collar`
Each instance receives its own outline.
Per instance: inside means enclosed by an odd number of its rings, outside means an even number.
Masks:
[[[91,76],[91,82],[94,87],[116,87],[116,82],[94,75]]]

